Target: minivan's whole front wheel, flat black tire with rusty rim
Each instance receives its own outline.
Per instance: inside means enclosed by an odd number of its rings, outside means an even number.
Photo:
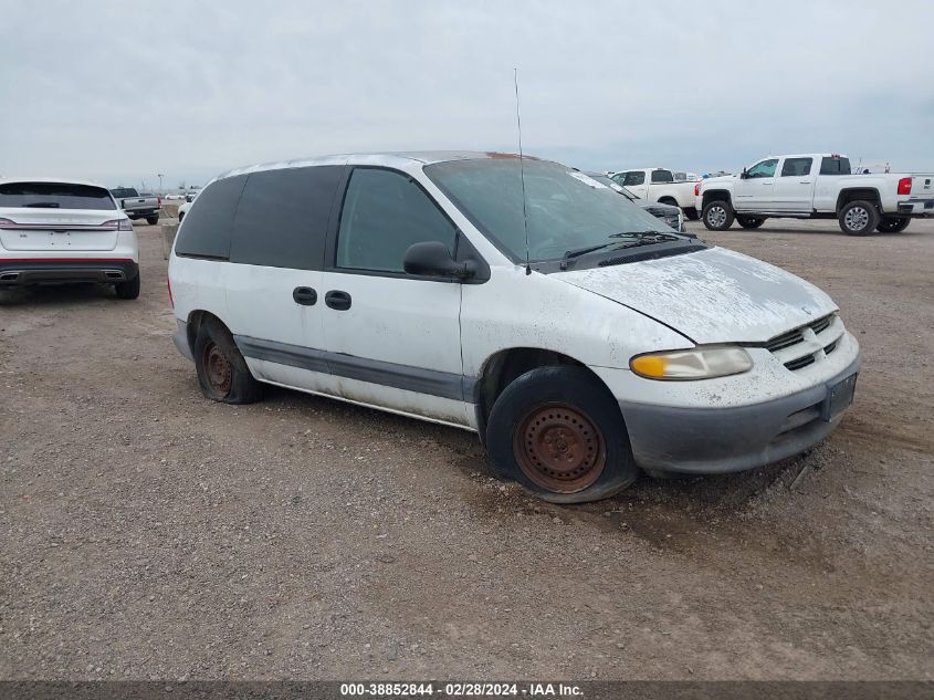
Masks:
[[[639,476],[613,397],[583,367],[539,367],[510,384],[490,411],[496,474],[552,503],[619,493]]]

